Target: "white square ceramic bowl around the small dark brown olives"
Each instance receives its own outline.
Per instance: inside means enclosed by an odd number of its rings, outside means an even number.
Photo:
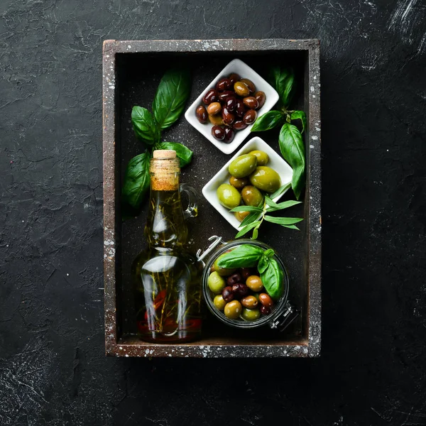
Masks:
[[[265,104],[263,104],[263,107],[258,109],[258,116],[261,116],[262,114],[270,111],[272,107],[278,102],[279,98],[278,92],[271,86],[271,84],[266,82],[266,80],[264,80],[260,75],[258,75],[256,71],[253,70],[253,68],[249,67],[249,65],[246,65],[242,60],[232,60],[228,65],[226,65],[226,67],[224,67],[221,72],[219,72],[217,77],[202,91],[200,96],[197,97],[195,102],[187,109],[185,112],[185,119],[187,119],[187,122],[191,126],[195,127],[197,131],[209,139],[209,141],[212,142],[214,146],[219,148],[219,150],[225,154],[234,152],[236,148],[241,145],[244,139],[249,136],[252,125],[250,124],[244,130],[236,131],[234,140],[231,143],[225,143],[218,141],[216,138],[214,138],[214,136],[212,136],[212,124],[209,121],[206,124],[202,124],[197,120],[197,117],[195,116],[195,110],[199,105],[204,105],[202,98],[204,97],[204,94],[207,92],[207,90],[214,88],[216,83],[221,78],[227,77],[232,72],[236,72],[241,76],[241,78],[248,78],[254,83],[257,90],[265,92],[266,101]]]

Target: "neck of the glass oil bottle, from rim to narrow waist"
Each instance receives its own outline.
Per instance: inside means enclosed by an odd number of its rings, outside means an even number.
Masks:
[[[177,158],[153,158],[151,192],[145,234],[150,247],[173,249],[187,241],[187,226],[180,200]]]

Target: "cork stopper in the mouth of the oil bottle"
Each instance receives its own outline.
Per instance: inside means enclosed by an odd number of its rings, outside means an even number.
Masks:
[[[158,149],[153,151],[151,165],[151,188],[155,191],[176,191],[179,188],[179,159],[176,151]]]

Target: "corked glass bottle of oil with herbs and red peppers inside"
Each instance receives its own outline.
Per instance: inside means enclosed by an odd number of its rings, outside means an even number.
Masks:
[[[197,216],[195,190],[179,185],[175,151],[154,151],[150,175],[148,249],[132,266],[138,336],[148,342],[190,342],[200,337],[202,324],[202,262],[185,248],[185,219]],[[190,200],[185,212],[181,191]]]

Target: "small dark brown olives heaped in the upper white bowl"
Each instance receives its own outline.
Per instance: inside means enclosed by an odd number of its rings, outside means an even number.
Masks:
[[[233,72],[207,90],[204,104],[197,107],[195,115],[200,123],[213,125],[212,136],[217,141],[231,143],[236,131],[253,124],[265,100],[266,94],[258,91],[251,80]]]

